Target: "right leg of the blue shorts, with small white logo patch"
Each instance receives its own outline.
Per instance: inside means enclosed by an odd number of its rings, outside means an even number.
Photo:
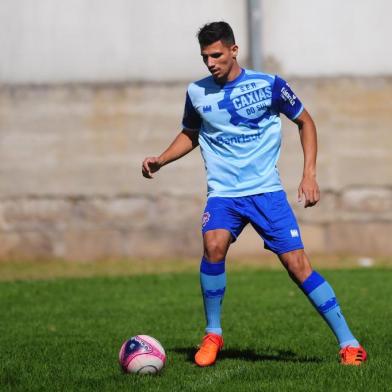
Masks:
[[[277,255],[303,249],[301,232],[284,191],[256,195],[253,203],[258,213],[251,224],[264,239],[264,247]]]

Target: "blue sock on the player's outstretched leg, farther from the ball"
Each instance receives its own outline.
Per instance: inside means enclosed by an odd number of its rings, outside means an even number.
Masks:
[[[330,284],[313,271],[300,287],[328,323],[340,347],[348,345],[359,347],[358,340],[351,333]]]

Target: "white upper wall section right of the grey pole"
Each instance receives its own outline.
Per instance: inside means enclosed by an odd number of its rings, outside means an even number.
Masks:
[[[392,2],[264,0],[264,56],[297,76],[391,75]]]

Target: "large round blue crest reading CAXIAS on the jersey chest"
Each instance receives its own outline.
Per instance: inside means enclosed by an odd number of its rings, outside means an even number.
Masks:
[[[256,75],[254,78],[258,79]],[[258,129],[259,122],[270,115],[271,100],[272,89],[267,81],[260,83],[245,80],[234,88],[227,88],[223,99],[218,102],[218,107],[230,113],[230,122],[233,125]]]

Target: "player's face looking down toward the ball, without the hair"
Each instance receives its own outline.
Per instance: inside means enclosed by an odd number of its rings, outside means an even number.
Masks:
[[[237,45],[228,46],[222,41],[216,41],[201,48],[204,64],[217,81],[225,81],[227,79],[235,64],[237,53]]]

